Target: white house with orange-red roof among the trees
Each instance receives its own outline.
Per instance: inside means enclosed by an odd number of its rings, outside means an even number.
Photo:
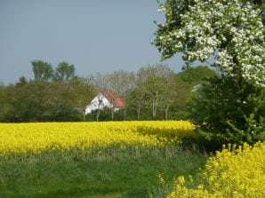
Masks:
[[[92,110],[103,109],[104,107],[114,108],[114,111],[124,107],[124,101],[113,92],[102,91],[92,99],[90,104],[85,107],[85,115],[90,114]]]

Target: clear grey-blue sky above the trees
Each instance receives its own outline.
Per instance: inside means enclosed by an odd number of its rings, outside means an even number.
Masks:
[[[150,43],[157,0],[0,0],[0,82],[33,79],[31,61],[56,67],[67,61],[76,75],[136,72],[160,63]],[[181,71],[181,54],[164,63]]]

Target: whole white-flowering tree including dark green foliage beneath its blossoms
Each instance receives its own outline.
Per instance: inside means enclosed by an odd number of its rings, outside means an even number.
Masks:
[[[182,52],[189,64],[214,57],[221,76],[199,91],[194,123],[214,139],[254,142],[264,135],[263,0],[166,0],[153,42],[162,59]]]

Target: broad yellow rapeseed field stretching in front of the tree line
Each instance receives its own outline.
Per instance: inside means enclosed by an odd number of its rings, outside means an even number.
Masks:
[[[102,123],[0,123],[0,155],[41,153],[56,149],[90,149],[135,145],[164,146],[194,135],[185,121],[102,122]]]

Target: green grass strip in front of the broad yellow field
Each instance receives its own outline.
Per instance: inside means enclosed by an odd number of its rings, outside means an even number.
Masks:
[[[195,175],[205,162],[180,146],[111,151],[1,157],[0,197],[146,197],[159,185],[158,175]]]

